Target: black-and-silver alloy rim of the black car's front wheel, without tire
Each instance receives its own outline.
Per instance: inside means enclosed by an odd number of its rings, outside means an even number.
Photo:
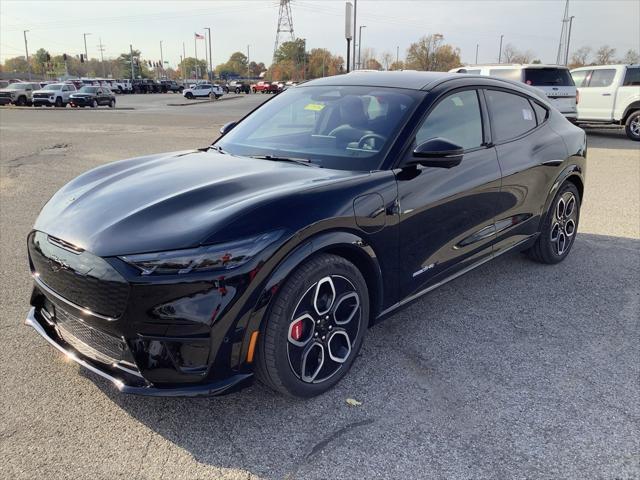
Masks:
[[[289,366],[306,383],[322,383],[347,361],[361,323],[360,297],[345,277],[330,275],[298,301],[287,334]]]

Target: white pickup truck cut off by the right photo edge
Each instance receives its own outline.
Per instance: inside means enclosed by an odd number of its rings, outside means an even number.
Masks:
[[[640,141],[640,65],[598,65],[571,70],[578,87],[578,123],[620,125]]]

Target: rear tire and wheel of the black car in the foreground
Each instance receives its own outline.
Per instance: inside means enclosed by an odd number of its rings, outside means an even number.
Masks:
[[[564,202],[562,208],[561,200]],[[573,202],[573,206],[571,206],[571,202]],[[551,202],[536,243],[526,252],[532,260],[554,264],[567,258],[578,234],[580,202],[580,192],[576,186],[571,182],[565,182]],[[559,215],[561,210],[565,213]],[[564,241],[562,242],[563,237]]]

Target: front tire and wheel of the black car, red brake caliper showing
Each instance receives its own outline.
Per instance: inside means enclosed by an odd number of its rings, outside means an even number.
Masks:
[[[320,288],[323,289],[321,295]],[[349,290],[352,292],[346,293]],[[327,291],[335,292],[331,302],[328,301],[331,295],[325,296]],[[345,298],[345,295],[353,293],[357,295],[355,298]],[[319,297],[324,302],[323,309],[328,306],[321,314],[317,308]],[[310,298],[313,299],[313,307],[305,308]],[[351,301],[353,303],[343,307],[343,304]],[[301,314],[301,309],[309,312],[309,316],[304,318],[306,313]],[[340,311],[340,315],[349,319],[338,325],[335,314]],[[298,318],[304,318],[299,320],[300,323],[308,322],[298,332],[302,334],[302,329],[306,329],[308,338],[304,345],[295,346],[291,332]],[[323,253],[312,257],[290,275],[269,308],[259,337],[257,378],[273,390],[292,397],[309,398],[324,393],[336,385],[351,368],[362,346],[368,320],[369,293],[360,271],[351,262],[336,255]],[[322,356],[319,355],[318,348]],[[332,349],[335,350],[333,353]],[[318,352],[315,363],[313,358],[309,361],[309,357],[313,356],[310,352],[314,350]],[[339,357],[340,362],[335,360],[338,357],[336,353],[342,355]],[[299,372],[294,371],[294,363],[299,367]],[[312,375],[306,375],[305,381],[303,378],[309,363],[315,371]],[[315,380],[318,376],[324,378]]]

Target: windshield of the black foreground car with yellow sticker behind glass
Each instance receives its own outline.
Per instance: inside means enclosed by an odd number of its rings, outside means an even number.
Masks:
[[[298,87],[249,115],[216,146],[234,155],[376,170],[421,95],[398,88]]]

